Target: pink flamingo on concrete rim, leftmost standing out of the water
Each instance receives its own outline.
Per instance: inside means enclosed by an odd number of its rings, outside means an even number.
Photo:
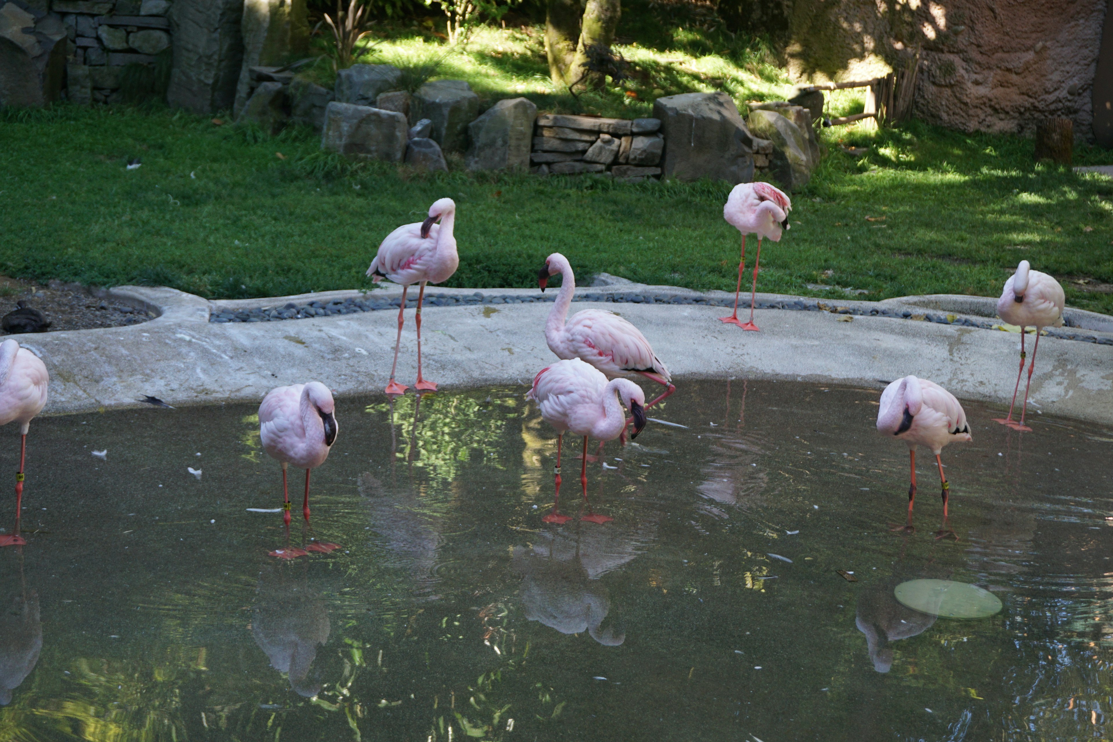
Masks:
[[[440,219],[441,224],[436,224]],[[421,224],[398,227],[378,246],[375,259],[367,268],[367,275],[376,284],[390,278],[402,285],[402,304],[398,306],[398,337],[394,342],[394,365],[391,366],[391,382],[386,394],[405,394],[408,388],[394,380],[398,366],[398,344],[402,343],[402,314],[406,308],[406,291],[411,284],[421,284],[417,291],[417,383],[418,392],[435,392],[436,383],[426,382],[421,376],[421,303],[425,297],[425,284],[449,280],[460,266],[456,254],[456,238],[452,226],[456,219],[456,204],[451,198],[441,198],[429,207],[429,218]]]

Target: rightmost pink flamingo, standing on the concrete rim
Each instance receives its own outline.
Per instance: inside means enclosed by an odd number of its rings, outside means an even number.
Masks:
[[[1058,281],[1045,273],[1032,270],[1027,260],[1021,260],[1016,273],[1005,281],[1005,289],[997,299],[997,314],[1009,325],[1021,327],[1021,369],[1016,372],[1016,386],[1013,388],[1013,403],[1008,406],[1008,417],[995,417],[995,423],[1007,425],[1014,431],[1031,433],[1032,428],[1024,424],[1024,414],[1028,408],[1028,389],[1032,387],[1032,369],[1036,366],[1036,350],[1040,348],[1040,330],[1048,325],[1063,326],[1063,306],[1066,297]],[[1028,366],[1028,383],[1024,386],[1024,406],[1021,407],[1021,422],[1013,422],[1013,407],[1016,405],[1016,393],[1021,388],[1021,374],[1024,373],[1024,328],[1036,328],[1036,343],[1032,348],[1032,364]]]

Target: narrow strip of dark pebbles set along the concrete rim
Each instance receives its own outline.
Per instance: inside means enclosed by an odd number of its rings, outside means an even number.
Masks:
[[[430,294],[426,295],[424,306],[450,307],[470,306],[480,304],[540,304],[555,301],[556,295],[538,294],[535,296],[521,295],[487,295],[481,291],[466,295]],[[735,300],[731,298],[706,297],[689,294],[673,294],[669,296],[658,296],[631,293],[613,294],[577,294],[573,301],[598,301],[614,304],[695,304],[708,307],[731,307]],[[373,296],[364,298],[348,297],[346,299],[332,299],[331,301],[309,301],[308,304],[294,304],[293,301],[282,307],[256,307],[253,309],[223,309],[209,314],[210,323],[255,323],[255,321],[278,321],[283,319],[308,319],[311,317],[327,317],[333,315],[349,315],[357,311],[381,311],[397,309],[401,297],[391,299],[377,299]],[[406,308],[413,309],[417,306],[415,297],[407,297]],[[741,305],[739,305],[741,306]],[[916,313],[907,308],[877,307],[876,309],[859,309],[856,307],[840,307],[827,301],[811,301],[805,299],[781,300],[781,301],[758,301],[755,305],[758,309],[787,309],[790,311],[829,311],[838,315],[851,315],[861,317],[890,317],[893,319],[913,319],[919,321],[930,321],[940,325],[958,325],[961,327],[977,327],[981,329],[994,329],[1001,323],[993,319],[971,319],[969,317],[955,314],[939,314],[932,311]],[[1080,340],[1082,343],[1095,343],[1097,345],[1113,345],[1113,338],[1096,337],[1094,335],[1081,335],[1072,333],[1065,328],[1047,328],[1046,334],[1064,340]]]

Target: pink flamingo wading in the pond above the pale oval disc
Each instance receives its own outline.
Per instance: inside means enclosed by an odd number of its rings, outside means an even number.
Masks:
[[[947,524],[947,495],[951,484],[943,474],[939,452],[956,441],[969,442],[971,428],[966,423],[963,406],[942,386],[926,378],[905,376],[885,387],[880,407],[877,409],[877,432],[900,438],[908,445],[912,462],[912,486],[908,487],[908,525],[912,532],[912,507],[916,499],[916,446],[925,446],[935,454],[939,465],[939,481],[943,483],[943,523]],[[940,530],[936,538],[954,536],[949,530]]]

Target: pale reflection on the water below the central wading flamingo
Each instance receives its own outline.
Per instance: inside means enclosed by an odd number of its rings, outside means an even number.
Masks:
[[[530,546],[515,546],[526,619],[562,634],[585,631],[600,644],[618,646],[626,634],[602,625],[611,602],[600,577],[644,553],[656,536],[657,520],[639,517],[608,528],[543,532]]]

